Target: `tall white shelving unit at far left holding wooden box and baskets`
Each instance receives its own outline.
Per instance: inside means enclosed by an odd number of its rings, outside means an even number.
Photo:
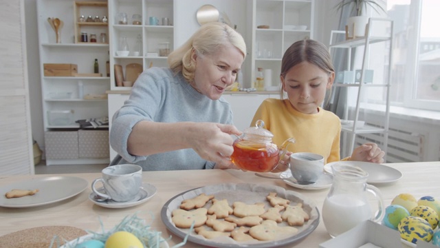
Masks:
[[[110,77],[106,75],[106,61],[109,60],[109,44],[108,43],[78,43],[76,39],[77,22],[75,6],[78,2],[72,0],[41,0],[37,1],[37,25],[39,30],[39,54],[40,54],[40,73],[41,73],[41,94],[43,99],[43,129],[45,134],[53,136],[53,134],[78,134],[80,130],[90,130],[97,134],[101,132],[108,132],[108,125],[101,125],[98,128],[80,128],[77,120],[87,118],[102,118],[108,116],[108,101],[107,99],[83,99],[80,97],[80,90],[78,83],[83,84],[83,94],[102,95],[110,88]],[[81,1],[80,12],[87,11],[90,7],[90,14],[92,16],[102,16],[107,14],[107,1]],[[105,8],[103,7],[105,6]],[[96,12],[94,12],[94,9]],[[96,14],[92,14],[96,13]],[[58,17],[64,22],[61,30],[61,43],[56,43],[55,32],[47,22],[48,17]],[[103,29],[108,30],[107,24],[91,23],[84,25],[86,30],[94,32],[99,37]],[[80,26],[83,30],[83,25]],[[98,39],[99,40],[99,39]],[[76,64],[78,74],[92,74],[94,73],[94,60],[98,59],[99,72],[104,76],[45,76],[45,63],[61,63],[61,64]],[[67,94],[65,97],[56,97],[54,99],[51,94]],[[51,125],[49,121],[49,113],[56,111],[70,111],[72,112],[72,121],[63,123],[65,125]],[[53,123],[52,123],[53,124]],[[94,132],[96,131],[96,132]],[[77,135],[78,136],[78,135]],[[94,141],[92,141],[94,142]],[[80,145],[80,140],[76,143]],[[107,147],[108,141],[104,143]],[[59,143],[61,146],[69,145],[68,141]],[[76,145],[76,152],[78,154],[78,147]],[[90,144],[87,144],[90,145]],[[48,141],[45,135],[45,152],[47,149],[54,147],[52,141]],[[72,148],[72,147],[69,147]],[[70,149],[65,149],[70,152]],[[47,154],[46,154],[47,155]],[[72,156],[72,158],[52,158],[46,156],[46,165],[77,165],[77,164],[95,164],[95,163],[109,163],[109,158],[93,156]]]

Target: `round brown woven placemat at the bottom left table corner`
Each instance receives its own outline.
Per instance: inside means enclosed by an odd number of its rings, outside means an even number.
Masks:
[[[8,248],[47,248],[54,236],[63,245],[63,240],[73,240],[86,235],[83,229],[68,226],[34,227],[15,231],[0,237],[0,247]]]

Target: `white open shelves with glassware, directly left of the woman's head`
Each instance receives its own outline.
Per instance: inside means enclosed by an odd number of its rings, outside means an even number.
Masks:
[[[119,23],[119,14],[127,14],[128,24]],[[166,67],[166,56],[159,56],[159,43],[169,42],[170,51],[174,49],[175,30],[173,25],[161,25],[162,17],[166,17],[173,23],[174,0],[110,0],[109,1],[109,34],[110,34],[110,75],[111,90],[130,90],[131,87],[117,86],[115,82],[114,65],[122,65],[124,79],[126,77],[126,65],[139,63],[143,70],[151,66]],[[141,24],[133,25],[133,14],[140,14]],[[150,25],[149,17],[157,17],[159,25]],[[142,50],[139,56],[133,56],[137,36],[142,37]],[[116,51],[122,37],[126,37],[129,44],[129,56],[117,56]],[[157,52],[157,56],[148,56],[147,52]],[[134,82],[133,82],[134,83]]]

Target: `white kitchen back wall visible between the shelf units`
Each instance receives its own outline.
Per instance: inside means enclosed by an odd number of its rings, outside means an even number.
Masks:
[[[36,23],[36,1],[25,1],[25,24],[27,30],[27,49],[28,49],[28,73],[30,87],[30,106],[32,119],[32,136],[44,147],[44,128],[43,128],[43,107],[41,98],[40,66],[39,66],[39,44],[38,28]],[[339,13],[333,8],[339,0],[316,0],[315,2],[315,32],[314,39],[328,44],[330,30],[336,29],[338,25]],[[190,37],[190,35],[199,28],[195,13],[200,6],[211,4],[218,10],[227,12],[232,25],[236,23],[246,23],[246,25],[237,25],[245,41],[250,44],[250,32],[248,32],[248,23],[252,22],[252,14],[248,14],[246,3],[251,0],[191,0],[176,1],[175,19],[186,20],[177,21],[175,25],[175,35],[185,37],[175,43],[175,47],[181,45]],[[245,61],[246,63],[246,61]],[[243,70],[245,80],[250,80],[250,71]]]

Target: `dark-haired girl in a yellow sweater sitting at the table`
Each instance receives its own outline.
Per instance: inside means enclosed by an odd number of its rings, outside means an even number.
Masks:
[[[252,123],[263,120],[276,145],[295,138],[292,152],[314,152],[324,156],[325,163],[340,161],[340,119],[320,107],[335,79],[327,47],[311,39],[296,41],[283,55],[280,78],[288,99],[283,94],[281,99],[266,99]],[[383,157],[377,144],[365,143],[343,160],[383,163]]]

